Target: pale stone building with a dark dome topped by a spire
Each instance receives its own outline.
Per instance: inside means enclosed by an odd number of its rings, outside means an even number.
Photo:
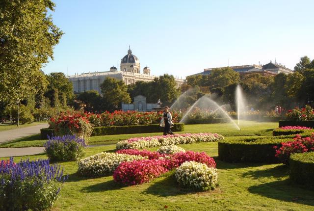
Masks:
[[[88,90],[96,90],[101,93],[100,85],[107,77],[123,80],[125,84],[133,84],[136,81],[152,81],[157,76],[151,75],[149,67],[143,68],[141,73],[141,66],[137,56],[132,54],[129,47],[128,54],[121,59],[120,70],[116,67],[110,67],[109,71],[104,72],[88,72],[82,74],[75,74],[74,76],[68,76],[68,79],[73,83],[73,89],[75,93],[80,93]],[[177,87],[183,84],[183,79],[175,77]]]

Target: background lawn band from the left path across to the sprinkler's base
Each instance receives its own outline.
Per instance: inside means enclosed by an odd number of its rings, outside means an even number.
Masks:
[[[198,133],[198,132],[212,132],[219,133],[224,136],[252,136],[252,135],[271,135],[273,129],[278,128],[278,123],[273,122],[254,122],[254,121],[240,121],[241,131],[235,129],[232,123],[225,124],[203,124],[203,125],[185,125],[183,132],[176,133]],[[161,132],[154,133],[136,133],[136,134],[119,134],[119,135],[101,135],[90,137],[89,143],[91,145],[116,143],[120,140],[125,140],[131,137],[142,137],[160,135]],[[37,137],[37,138],[36,138]],[[2,148],[12,147],[40,147],[46,140],[40,140],[39,135],[32,135],[16,140],[12,140],[0,145]]]

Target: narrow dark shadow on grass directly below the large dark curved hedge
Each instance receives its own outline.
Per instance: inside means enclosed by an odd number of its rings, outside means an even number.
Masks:
[[[243,177],[252,177],[254,179],[258,179],[261,177],[274,177],[280,178],[288,175],[288,168],[285,165],[277,165],[274,168],[268,168],[257,171],[248,171],[242,174]]]

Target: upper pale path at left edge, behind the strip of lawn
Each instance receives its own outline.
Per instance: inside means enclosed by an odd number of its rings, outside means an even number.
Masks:
[[[44,124],[29,126],[29,127],[25,127],[25,128],[0,131],[0,144],[7,142],[7,141],[10,141],[10,140],[21,138],[24,136],[38,134],[38,133],[40,133],[40,129],[48,128],[48,126],[49,125],[47,123],[44,123]]]

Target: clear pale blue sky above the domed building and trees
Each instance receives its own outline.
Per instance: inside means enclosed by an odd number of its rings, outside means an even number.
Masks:
[[[153,75],[314,59],[313,0],[54,0],[64,36],[45,73],[120,68],[129,45]]]

